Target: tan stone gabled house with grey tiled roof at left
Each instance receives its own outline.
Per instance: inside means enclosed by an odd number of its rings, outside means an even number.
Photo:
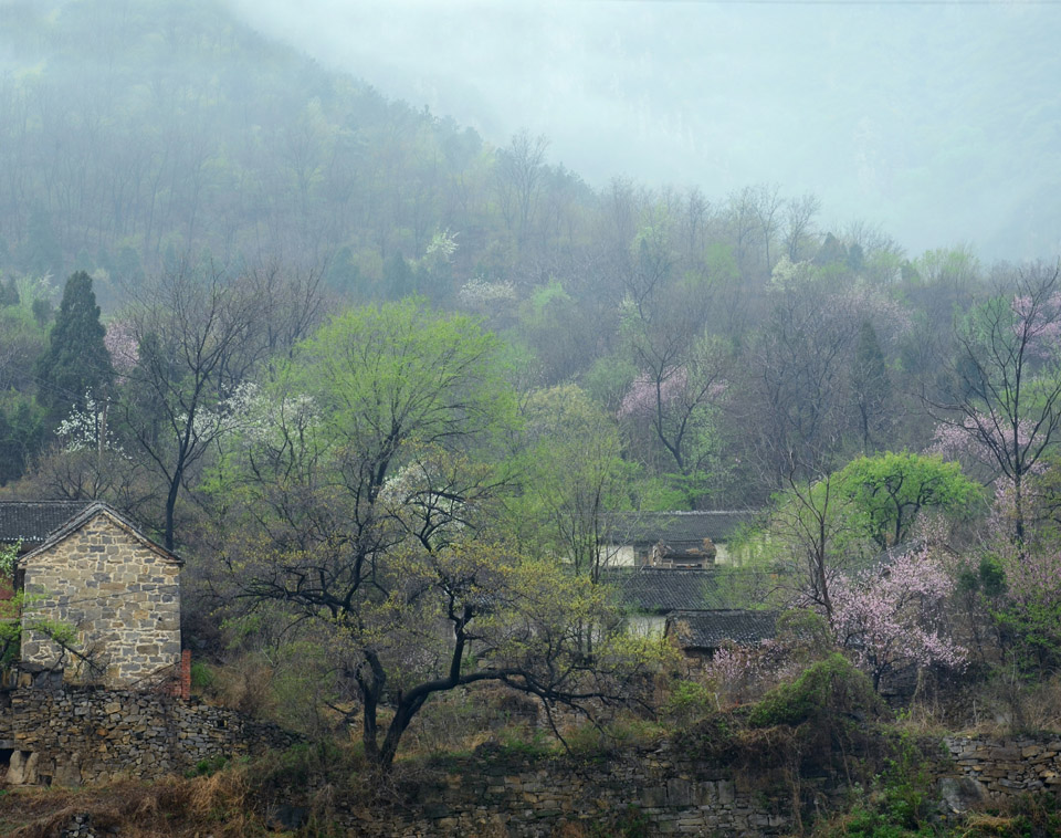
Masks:
[[[147,689],[178,672],[182,562],[105,503],[0,503],[0,542],[21,541],[20,669],[62,670],[69,683]],[[67,516],[50,532],[44,526]],[[35,631],[61,625],[59,645]]]

